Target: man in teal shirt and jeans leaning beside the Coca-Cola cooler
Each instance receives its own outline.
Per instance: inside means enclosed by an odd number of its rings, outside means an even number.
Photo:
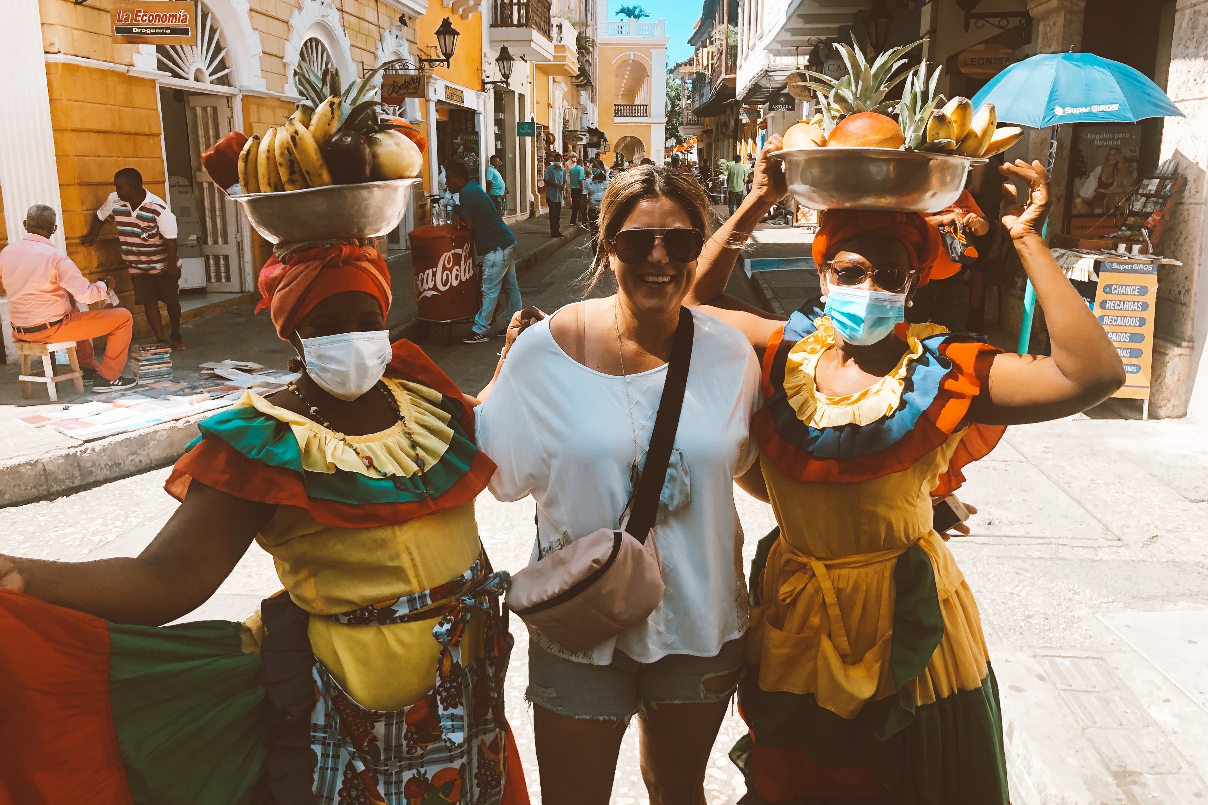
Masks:
[[[487,331],[495,316],[500,290],[504,294],[504,326],[495,334],[507,334],[507,322],[521,309],[521,286],[516,281],[516,235],[499,216],[495,204],[476,182],[470,181],[465,163],[451,159],[445,171],[449,189],[461,199],[453,214],[453,228],[474,233],[474,250],[482,256],[482,308],[474,319],[466,344],[487,343]]]

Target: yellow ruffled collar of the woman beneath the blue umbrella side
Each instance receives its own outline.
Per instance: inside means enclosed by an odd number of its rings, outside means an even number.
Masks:
[[[923,354],[922,339],[948,332],[940,325],[911,325],[906,354],[893,372],[852,395],[827,397],[814,387],[814,372],[823,352],[835,346],[835,328],[827,316],[814,320],[817,329],[789,350],[784,366],[784,393],[806,425],[817,428],[871,425],[892,414],[901,402],[906,371]]]

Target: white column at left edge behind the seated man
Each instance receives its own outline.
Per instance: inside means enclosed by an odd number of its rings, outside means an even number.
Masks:
[[[54,208],[58,232],[51,238],[66,250],[59,170],[54,162],[54,130],[42,57],[42,18],[36,2],[0,2],[0,105],[8,110],[0,126],[0,192],[8,240],[24,235],[25,211],[34,204]]]

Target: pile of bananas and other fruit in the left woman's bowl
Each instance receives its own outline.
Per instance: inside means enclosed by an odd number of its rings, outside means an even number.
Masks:
[[[389,63],[388,63],[389,64]],[[284,126],[254,135],[239,154],[239,185],[244,193],[348,185],[373,180],[412,179],[423,168],[419,147],[405,134],[401,121],[382,118],[372,81],[383,64],[338,93],[335,71],[324,76],[331,94],[318,104],[301,103]]]

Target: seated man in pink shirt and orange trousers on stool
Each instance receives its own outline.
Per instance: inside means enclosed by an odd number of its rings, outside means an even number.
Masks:
[[[76,302],[104,302],[114,279],[89,284],[71,258],[51,243],[58,228],[54,210],[35,204],[25,214],[28,234],[0,251],[0,284],[8,294],[13,338],[33,344],[75,342],[83,380],[94,392],[130,389],[135,380],[122,377],[122,369],[134,319],[126,308],[81,311],[76,307]],[[105,357],[98,364],[92,339],[100,337],[106,339]]]

